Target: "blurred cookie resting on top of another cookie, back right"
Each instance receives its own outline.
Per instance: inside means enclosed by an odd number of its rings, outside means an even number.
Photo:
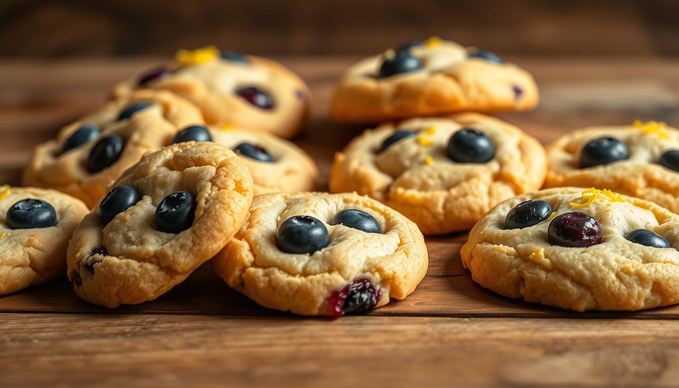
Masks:
[[[335,88],[339,122],[380,122],[458,111],[534,108],[538,89],[525,70],[492,52],[433,37],[361,60]]]

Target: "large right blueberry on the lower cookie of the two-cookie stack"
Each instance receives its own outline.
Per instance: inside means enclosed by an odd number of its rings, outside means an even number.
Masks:
[[[454,133],[446,152],[448,158],[458,163],[485,163],[495,157],[495,147],[490,138],[473,128],[462,128]]]

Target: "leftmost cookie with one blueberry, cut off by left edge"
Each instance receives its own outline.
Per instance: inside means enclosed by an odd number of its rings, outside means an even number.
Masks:
[[[88,213],[72,196],[0,188],[0,295],[64,276],[73,230]]]

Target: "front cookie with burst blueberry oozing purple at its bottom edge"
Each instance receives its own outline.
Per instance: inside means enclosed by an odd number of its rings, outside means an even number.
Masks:
[[[257,196],[246,222],[213,259],[226,283],[268,308],[340,316],[403,299],[422,281],[422,233],[356,194]]]

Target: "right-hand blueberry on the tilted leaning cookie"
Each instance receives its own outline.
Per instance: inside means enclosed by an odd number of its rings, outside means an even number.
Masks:
[[[174,192],[155,209],[155,227],[161,232],[179,233],[191,228],[196,217],[196,198],[189,192]]]

